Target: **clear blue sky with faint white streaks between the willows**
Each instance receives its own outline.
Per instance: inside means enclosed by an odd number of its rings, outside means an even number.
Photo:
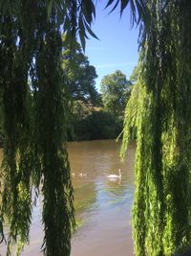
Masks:
[[[127,79],[138,63],[138,29],[131,29],[130,12],[120,18],[119,9],[109,13],[104,10],[106,1],[97,1],[96,21],[92,30],[100,40],[90,36],[86,41],[85,55],[96,66],[96,87],[103,76],[121,70]],[[110,9],[111,10],[111,9]]]

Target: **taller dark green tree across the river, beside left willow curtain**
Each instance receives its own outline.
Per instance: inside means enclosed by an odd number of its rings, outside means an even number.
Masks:
[[[96,91],[96,68],[90,65],[78,42],[73,42],[73,49],[65,39],[63,42],[62,68],[68,83],[69,95],[75,102],[97,105],[99,95]]]

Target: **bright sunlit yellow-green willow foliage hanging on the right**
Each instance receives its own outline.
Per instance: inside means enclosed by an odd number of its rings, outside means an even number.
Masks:
[[[147,7],[151,20],[141,24],[140,76],[126,107],[122,151],[136,128],[136,255],[173,255],[191,239],[191,3]]]

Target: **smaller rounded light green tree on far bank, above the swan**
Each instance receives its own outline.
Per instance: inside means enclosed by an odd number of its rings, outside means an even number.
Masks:
[[[120,70],[102,79],[100,91],[106,111],[116,116],[123,115],[131,84]]]

